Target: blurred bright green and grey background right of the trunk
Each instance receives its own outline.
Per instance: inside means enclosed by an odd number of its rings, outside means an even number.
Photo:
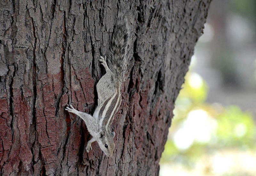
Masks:
[[[160,176],[255,176],[256,1],[212,1],[204,27]]]

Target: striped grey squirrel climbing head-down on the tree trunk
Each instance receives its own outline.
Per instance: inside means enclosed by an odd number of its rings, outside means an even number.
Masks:
[[[113,141],[115,132],[111,132],[110,125],[121,104],[121,85],[127,71],[127,39],[128,28],[124,16],[118,12],[116,26],[109,44],[107,58],[100,56],[100,64],[106,73],[96,85],[98,106],[93,115],[77,111],[70,104],[65,110],[76,114],[84,120],[92,139],[87,142],[87,153],[92,149],[92,142],[97,141],[106,156],[112,157],[115,148]]]

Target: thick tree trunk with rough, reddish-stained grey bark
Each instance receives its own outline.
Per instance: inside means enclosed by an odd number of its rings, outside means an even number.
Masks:
[[[1,175],[158,175],[190,57],[211,0],[0,2]],[[117,10],[130,37],[123,102],[106,157],[68,103],[93,113],[98,58]]]

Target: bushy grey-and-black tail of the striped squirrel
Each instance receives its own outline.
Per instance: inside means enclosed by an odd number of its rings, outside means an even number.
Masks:
[[[107,64],[113,73],[116,84],[124,81],[124,74],[127,71],[127,40],[128,29],[124,16],[118,12],[116,26],[109,44]]]

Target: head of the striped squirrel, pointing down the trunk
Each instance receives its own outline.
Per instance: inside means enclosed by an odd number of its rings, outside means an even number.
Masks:
[[[107,157],[112,157],[113,156],[113,151],[115,148],[115,143],[114,143],[114,137],[115,137],[115,132],[107,132],[107,131],[101,131],[100,132],[100,138],[99,138],[99,146],[100,149],[107,155]]]

